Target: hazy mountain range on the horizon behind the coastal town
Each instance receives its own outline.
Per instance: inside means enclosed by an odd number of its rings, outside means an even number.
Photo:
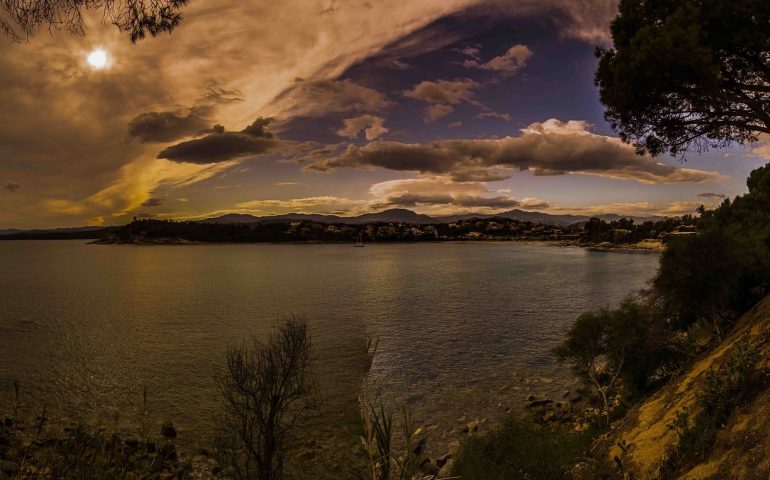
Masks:
[[[614,213],[595,215],[605,221],[620,220],[621,218],[627,218],[634,220],[636,223],[642,223],[648,220],[660,221],[665,220],[666,217],[651,216],[651,217],[634,217],[623,216]],[[319,223],[347,223],[347,224],[362,224],[362,223],[413,223],[416,225],[429,224],[429,223],[451,223],[460,220],[469,220],[472,218],[491,218],[501,217],[511,220],[518,220],[520,222],[532,222],[542,223],[546,225],[573,225],[575,223],[587,222],[591,216],[588,215],[553,215],[544,212],[529,212],[526,210],[508,210],[507,212],[496,213],[493,215],[485,213],[466,213],[462,215],[448,215],[442,217],[430,217],[428,215],[419,214],[412,210],[405,208],[392,208],[390,210],[384,210],[376,213],[365,213],[363,215],[357,215],[353,217],[343,217],[340,215],[323,215],[323,214],[309,214],[309,213],[287,213],[284,215],[271,215],[265,217],[256,217],[248,214],[231,213],[222,215],[220,217],[207,218],[201,220],[202,223],[220,223],[220,224],[232,224],[232,223],[264,223],[264,222],[287,222],[287,221],[313,221]]]

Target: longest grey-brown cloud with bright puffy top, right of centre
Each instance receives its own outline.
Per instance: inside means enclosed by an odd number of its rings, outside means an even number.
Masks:
[[[516,137],[452,139],[429,143],[376,141],[337,147],[337,154],[306,157],[305,168],[330,171],[340,167],[371,168],[449,175],[467,181],[472,175],[505,178],[501,169],[528,170],[534,175],[582,173],[640,183],[701,183],[722,178],[715,172],[677,167],[637,155],[620,139],[592,133],[588,124],[550,119],[536,122]]]

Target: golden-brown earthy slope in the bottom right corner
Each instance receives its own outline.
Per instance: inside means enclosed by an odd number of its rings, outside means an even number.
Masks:
[[[741,317],[733,333],[713,352],[628,413],[609,436],[610,459],[619,457],[634,479],[656,478],[664,453],[677,440],[676,431],[669,425],[677,412],[695,407],[706,373],[720,364],[746,334],[756,339],[767,330],[770,330],[770,296]],[[765,345],[762,353],[765,359],[770,358],[770,346]],[[767,479],[769,472],[770,390],[736,411],[718,434],[707,461],[682,478]]]

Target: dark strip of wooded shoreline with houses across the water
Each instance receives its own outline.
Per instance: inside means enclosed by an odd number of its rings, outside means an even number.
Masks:
[[[591,218],[569,225],[548,225],[501,217],[448,223],[372,222],[364,224],[282,220],[253,223],[177,222],[135,219],[110,229],[96,243],[249,243],[249,242],[441,242],[538,241],[597,248],[659,250],[673,237],[697,232],[690,216],[635,223],[622,218]]]

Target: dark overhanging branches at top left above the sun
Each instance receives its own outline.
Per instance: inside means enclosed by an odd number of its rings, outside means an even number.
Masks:
[[[171,31],[189,0],[0,0],[0,30],[16,41],[41,27],[83,35],[83,12],[101,10],[103,20],[127,32],[132,42]]]

